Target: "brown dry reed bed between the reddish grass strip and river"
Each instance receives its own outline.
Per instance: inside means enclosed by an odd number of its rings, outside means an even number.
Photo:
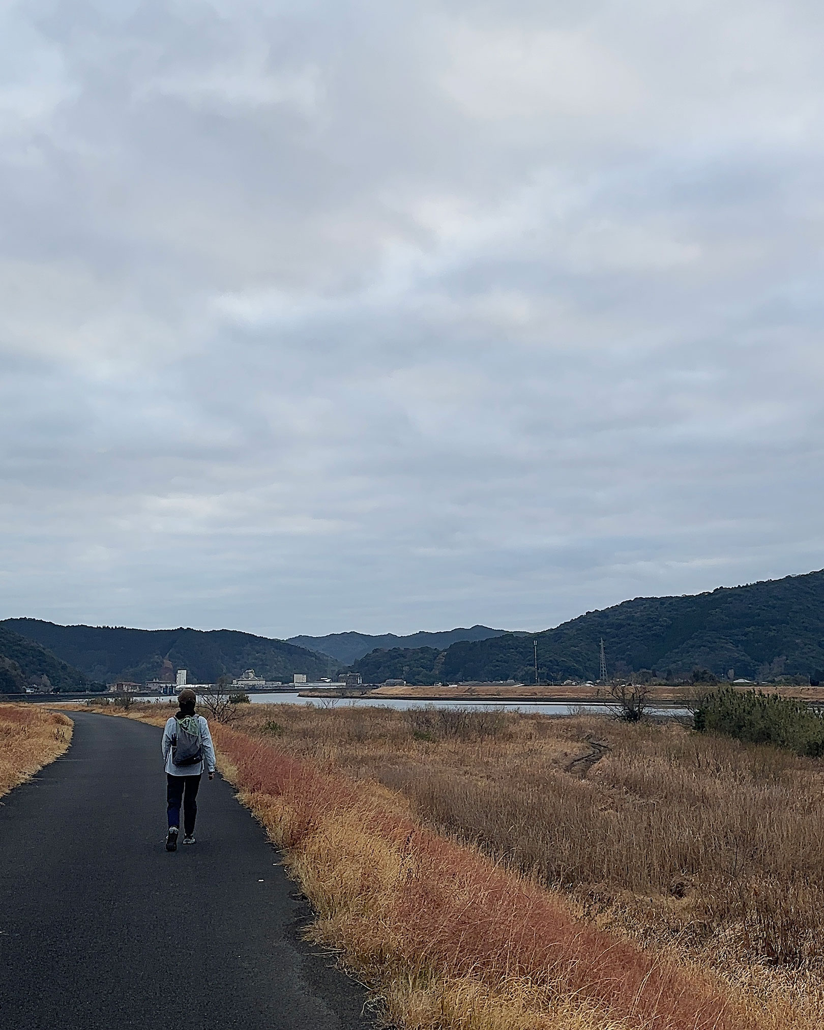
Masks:
[[[590,915],[620,909],[645,938],[743,960],[824,957],[820,760],[675,722],[256,708],[247,731],[399,791]],[[593,740],[606,747],[589,766]]]

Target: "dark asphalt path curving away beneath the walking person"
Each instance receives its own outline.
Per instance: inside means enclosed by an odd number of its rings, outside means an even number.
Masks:
[[[0,800],[2,1030],[366,1030],[363,989],[304,943],[306,901],[219,776],[168,853],[161,730],[75,714]]]

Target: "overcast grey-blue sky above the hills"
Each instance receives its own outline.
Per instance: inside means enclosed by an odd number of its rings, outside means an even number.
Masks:
[[[824,565],[824,8],[0,14],[0,615],[543,628]]]

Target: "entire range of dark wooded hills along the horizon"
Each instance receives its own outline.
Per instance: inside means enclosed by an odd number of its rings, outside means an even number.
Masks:
[[[346,655],[358,651],[349,663],[367,683],[531,683],[534,640],[542,681],[595,680],[602,638],[611,675],[650,670],[683,677],[698,667],[719,677],[732,670],[734,676],[751,680],[780,675],[824,680],[824,571],[699,594],[636,597],[537,633],[472,626],[406,638],[351,632],[277,641],[230,629],[60,626],[38,619],[6,619],[0,622],[3,629],[11,631],[5,645],[0,638],[0,659],[5,655],[0,679],[5,680],[23,675],[24,661],[6,653],[16,648],[33,663],[31,675],[45,675],[50,681],[54,673],[61,683],[76,682],[78,676],[106,683],[145,682],[159,676],[164,662],[187,670],[190,682],[214,682],[244,668],[270,680],[286,681],[294,673],[313,679],[336,672]],[[22,638],[41,650],[24,654]],[[315,648],[322,644],[328,652],[308,650],[298,641]],[[399,646],[410,641],[421,646]],[[338,653],[330,654],[333,649]]]

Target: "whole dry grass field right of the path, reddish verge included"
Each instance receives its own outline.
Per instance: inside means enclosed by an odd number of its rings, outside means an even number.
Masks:
[[[824,1026],[821,761],[676,723],[345,702],[215,728],[315,938],[398,1026]]]

